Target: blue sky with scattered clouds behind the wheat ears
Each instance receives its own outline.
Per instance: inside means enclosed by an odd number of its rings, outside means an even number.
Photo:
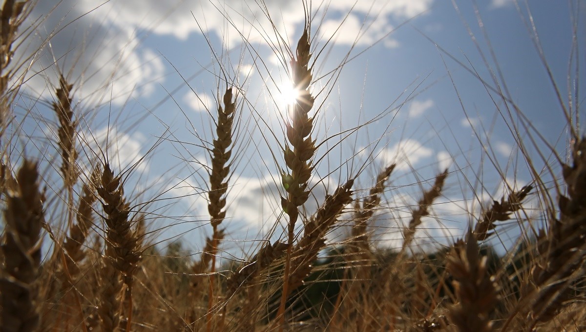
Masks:
[[[505,183],[519,189],[532,180],[519,157],[513,124],[529,146],[530,137],[539,133],[564,153],[567,122],[532,32],[525,26],[530,17],[525,2],[517,4],[520,12],[510,0],[454,4],[438,0],[312,4],[312,49],[319,53],[314,77],[322,77],[314,91],[324,91],[318,95],[322,106],[312,135],[318,142],[329,139],[317,152],[315,198],[309,200],[306,213],[315,210],[326,191],[360,170],[356,189],[358,196],[364,196],[376,173],[397,162],[382,203],[389,209],[380,213],[374,237],[380,245],[396,247],[400,245],[397,230],[408,222],[410,206],[422,189],[430,187],[435,174],[448,167],[452,174],[438,200],[441,204],[434,207],[437,217],[426,218],[417,236],[422,243],[451,241],[468,224],[465,211],[478,214],[481,204],[506,192]],[[575,1],[528,1],[528,8],[567,105],[571,18],[584,19],[584,4],[578,8]],[[267,12],[274,29],[268,25]],[[301,35],[301,1],[267,1],[260,8],[253,1],[236,0],[64,0],[58,5],[41,0],[33,17],[45,20],[38,35],[31,37],[29,50],[38,47],[44,36],[54,36],[32,64],[25,93],[33,100],[39,96],[50,101],[50,84],[57,81],[53,63],[59,64],[59,70],[73,80],[77,112],[84,114],[80,141],[87,141],[90,149],[82,153],[80,163],[88,165],[96,158],[93,152],[108,135],[108,141],[118,142],[108,153],[119,172],[145,157],[128,179],[128,196],[136,203],[165,198],[144,207],[152,213],[152,229],[160,229],[159,239],[180,235],[194,251],[211,229],[205,200],[209,158],[200,145],[212,138],[206,108],[214,114],[217,87],[226,87],[219,78],[223,66],[231,83],[241,88],[229,218],[222,224],[236,241],[228,242],[227,248],[244,247],[249,242],[240,240],[267,234],[281,237],[286,217],[278,204],[282,192],[278,167],[284,167],[278,146],[284,142],[281,123],[286,105],[278,87],[287,82],[288,60],[280,47],[296,45]],[[577,60],[583,62],[584,25],[579,22],[577,27]],[[340,67],[344,59],[351,60]],[[495,88],[490,74],[496,69],[503,75],[498,76],[499,85],[503,87],[504,81],[510,93],[509,106],[514,103],[533,129],[519,122],[518,115],[509,117],[498,94],[487,91],[473,74],[476,71]],[[570,72],[573,91],[584,74]],[[583,90],[580,85],[578,89]],[[44,138],[45,143],[21,144],[29,154],[37,151],[43,156],[50,170],[50,161],[58,155],[51,143],[52,115],[40,102],[30,105],[39,116],[29,118],[23,131]],[[347,136],[336,135],[367,122]],[[529,148],[536,168],[555,163],[547,155],[548,148],[541,142],[537,145],[549,159],[542,160]],[[52,179],[49,173],[47,179]],[[339,242],[344,235],[330,238]],[[501,241],[511,242],[504,235]]]

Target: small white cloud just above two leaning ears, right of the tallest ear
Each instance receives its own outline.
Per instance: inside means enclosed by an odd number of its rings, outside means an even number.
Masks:
[[[415,165],[419,160],[431,156],[432,150],[425,148],[420,142],[414,139],[404,139],[390,148],[383,149],[378,158],[383,165],[397,163],[398,170],[410,169],[410,165]]]

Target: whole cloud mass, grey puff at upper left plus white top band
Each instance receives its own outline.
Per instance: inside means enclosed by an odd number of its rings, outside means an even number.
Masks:
[[[337,25],[330,15],[339,16],[352,9],[352,14],[342,26],[343,33],[338,34],[339,42],[352,43],[363,17],[368,15],[368,29],[359,40],[359,43],[366,45],[392,29],[390,18],[410,18],[427,11],[431,3],[432,0],[400,0],[385,4],[373,0],[330,2],[322,32],[330,32]],[[45,35],[53,31],[58,33],[52,37],[50,48],[47,47],[44,53],[37,53],[39,60],[31,67],[28,77],[32,79],[28,80],[27,86],[29,91],[35,91],[33,95],[40,93],[48,98],[52,89],[47,88],[47,81],[53,84],[57,81],[51,66],[54,59],[59,59],[61,69],[66,72],[71,70],[70,77],[81,78],[76,84],[77,97],[84,101],[93,98],[96,103],[103,102],[111,91],[114,104],[120,105],[129,97],[151,94],[163,81],[163,61],[157,52],[141,44],[144,36],[162,35],[185,40],[192,33],[203,32],[218,36],[223,43],[220,47],[224,49],[241,43],[243,37],[253,45],[278,45],[282,40],[290,40],[289,43],[294,46],[304,22],[301,3],[274,0],[264,2],[263,6],[265,8],[241,0],[63,0],[58,5],[41,0],[30,17],[42,17],[44,25],[39,27],[38,34],[27,40],[30,42],[27,46],[20,47],[19,52],[23,49],[27,49],[28,53],[35,52]],[[264,11],[270,13],[277,32],[266,29],[271,24]],[[226,18],[230,22],[227,23]],[[25,26],[30,23],[25,22]],[[384,39],[383,44],[397,46],[396,40],[389,38]],[[21,55],[16,54],[15,59]],[[42,75],[35,73],[47,68],[50,69]],[[244,66],[243,73],[247,69]]]

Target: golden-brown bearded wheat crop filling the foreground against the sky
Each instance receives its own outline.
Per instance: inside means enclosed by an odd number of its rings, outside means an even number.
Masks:
[[[147,235],[156,231],[150,221],[165,217],[148,211],[151,202],[127,194],[140,191],[128,188],[136,167],[115,166],[108,146],[96,147],[83,139],[81,125],[87,122],[72,102],[74,80],[60,75],[51,85],[53,100],[46,103],[52,108],[45,115],[52,119],[46,121],[57,124],[52,143],[59,157],[50,159],[54,166],[45,172],[59,174],[61,182],[49,183],[39,163],[15,148],[19,135],[26,136],[18,130],[18,122],[23,121],[18,117],[32,116],[18,114],[15,100],[23,84],[19,75],[26,71],[23,63],[33,57],[24,57],[21,63],[11,60],[33,29],[21,26],[33,5],[33,1],[6,0],[0,15],[1,331],[586,328],[581,301],[586,266],[586,138],[575,129],[579,123],[573,118],[580,104],[573,93],[567,103],[560,101],[574,130],[568,134],[572,142],[568,160],[557,160],[560,174],[556,167],[548,168],[553,182],[530,166],[532,184],[509,188],[481,211],[470,210],[471,222],[461,238],[431,252],[421,251],[416,234],[422,218],[433,214],[450,177],[458,176],[456,169],[442,169],[420,182],[420,197],[408,208],[410,217],[400,227],[402,245],[378,247],[373,241],[377,216],[393,208],[387,195],[396,190],[395,163],[379,165],[372,183],[360,186],[359,176],[376,164],[363,162],[356,153],[362,166],[319,197],[322,203],[315,211],[305,208],[317,195],[315,180],[324,180],[316,167],[331,151],[327,141],[345,136],[340,132],[323,138],[317,133],[324,107],[317,97],[328,94],[331,83],[323,88],[315,75],[316,57],[323,48],[312,37],[315,16],[311,2],[305,2],[301,36],[281,54],[298,91],[297,102],[283,116],[282,132],[271,132],[275,138],[282,134],[277,141],[283,142],[271,149],[275,163],[281,165],[280,205],[274,215],[276,223],[284,224],[283,234],[277,240],[272,233],[260,238],[254,252],[220,265],[217,258],[223,255],[227,235],[223,227],[233,217],[229,211],[237,211],[228,207],[230,195],[236,194],[230,187],[242,158],[239,147],[248,139],[243,133],[254,130],[241,123],[250,105],[245,85],[223,70],[218,84],[222,90],[209,112],[213,138],[200,138],[198,144],[210,161],[204,167],[205,227],[210,235],[203,251],[192,259],[183,255],[179,244],[171,243],[161,252],[165,243],[151,245]],[[490,87],[486,81],[483,84]],[[559,92],[557,85],[554,89]],[[520,112],[505,90],[497,95]],[[263,122],[247,124],[254,125]],[[521,136],[516,138],[520,158],[533,165],[525,153],[530,146]],[[344,143],[342,138],[337,144]],[[39,157],[43,158],[49,159]],[[504,221],[522,232],[516,246],[499,256],[487,241],[498,237]],[[345,238],[331,245],[328,237],[336,231]]]

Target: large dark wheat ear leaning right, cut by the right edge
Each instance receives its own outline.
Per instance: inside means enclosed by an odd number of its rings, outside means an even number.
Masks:
[[[537,238],[539,256],[524,287],[522,306],[529,302],[527,317],[533,327],[551,320],[569,299],[570,285],[584,272],[586,256],[586,136],[572,149],[573,165],[563,165],[567,196],[560,194],[559,219],[550,216],[547,234]]]

